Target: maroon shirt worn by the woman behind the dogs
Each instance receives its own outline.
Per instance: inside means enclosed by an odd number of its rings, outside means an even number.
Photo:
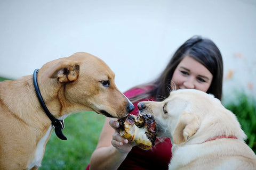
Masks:
[[[126,91],[124,95],[130,98],[142,92],[145,92],[145,90],[137,88]],[[154,99],[149,98],[141,101],[148,100],[152,101]],[[138,103],[139,102],[133,103],[135,108],[130,114],[138,115]],[[156,145],[152,146],[150,150],[143,150],[137,146],[133,147],[118,169],[168,169],[172,157],[171,141],[169,138],[165,138],[162,142],[157,139],[155,143]]]

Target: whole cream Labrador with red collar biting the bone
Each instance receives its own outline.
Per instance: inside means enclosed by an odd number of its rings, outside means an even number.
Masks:
[[[213,95],[177,90],[162,102],[142,101],[138,107],[154,115],[158,136],[171,139],[169,169],[256,169],[236,116]]]

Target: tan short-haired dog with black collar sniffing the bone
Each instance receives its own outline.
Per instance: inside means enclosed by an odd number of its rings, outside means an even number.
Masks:
[[[58,120],[82,111],[121,118],[134,108],[117,89],[108,65],[88,53],[48,62],[34,77],[47,109]],[[0,169],[41,166],[52,127],[32,75],[0,82]]]

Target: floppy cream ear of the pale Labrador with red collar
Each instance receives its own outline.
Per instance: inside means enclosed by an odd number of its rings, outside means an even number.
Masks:
[[[183,112],[180,115],[179,122],[174,130],[173,142],[176,145],[183,143],[188,140],[196,133],[200,126],[200,121],[197,115]]]

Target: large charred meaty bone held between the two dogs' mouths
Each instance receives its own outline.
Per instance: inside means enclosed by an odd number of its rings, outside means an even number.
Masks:
[[[119,131],[123,138],[134,141],[145,150],[155,145],[156,122],[151,114],[128,115],[118,120]]]

